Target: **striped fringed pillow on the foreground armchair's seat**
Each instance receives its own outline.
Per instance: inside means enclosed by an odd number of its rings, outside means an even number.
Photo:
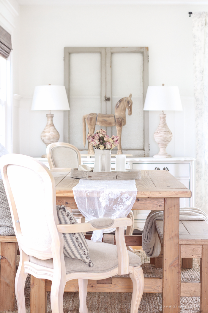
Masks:
[[[77,224],[76,219],[64,205],[57,205],[59,224]],[[83,233],[63,233],[64,255],[68,258],[80,259],[89,267],[93,266],[89,258],[89,249]]]

